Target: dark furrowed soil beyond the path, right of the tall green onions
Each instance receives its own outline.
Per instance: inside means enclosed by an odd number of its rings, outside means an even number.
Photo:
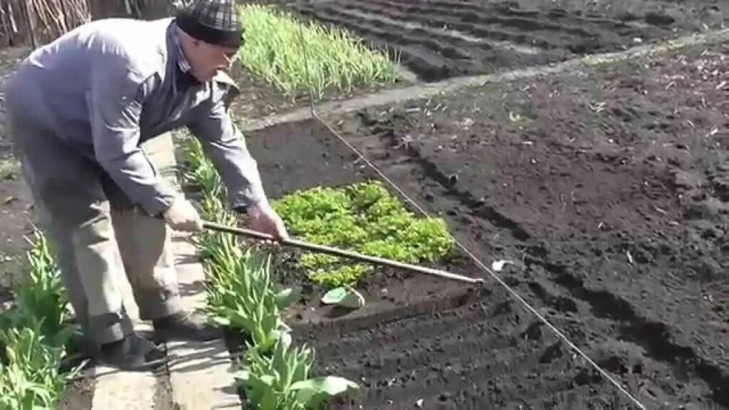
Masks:
[[[386,47],[422,80],[435,81],[717,28],[729,1],[332,0],[287,7]]]

